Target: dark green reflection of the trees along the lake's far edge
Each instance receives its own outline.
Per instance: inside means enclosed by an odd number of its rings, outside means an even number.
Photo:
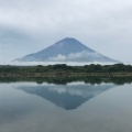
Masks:
[[[116,85],[123,85],[132,82],[132,77],[19,77],[19,78],[0,78],[0,82],[12,82],[12,81],[36,81],[37,84],[48,82],[56,85],[66,85],[73,81],[85,81],[86,84],[101,84],[112,82]]]

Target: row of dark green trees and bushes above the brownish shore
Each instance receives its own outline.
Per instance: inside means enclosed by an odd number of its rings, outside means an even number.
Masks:
[[[0,73],[132,73],[131,65],[85,65],[85,66],[67,66],[66,64],[56,64],[48,66],[0,66]]]

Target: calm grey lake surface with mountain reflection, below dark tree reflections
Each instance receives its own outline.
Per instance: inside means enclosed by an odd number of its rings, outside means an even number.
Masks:
[[[132,132],[132,84],[0,84],[0,132]]]

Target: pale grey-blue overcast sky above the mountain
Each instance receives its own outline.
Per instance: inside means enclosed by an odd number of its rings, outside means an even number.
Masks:
[[[0,64],[64,37],[132,63],[132,0],[0,0]]]

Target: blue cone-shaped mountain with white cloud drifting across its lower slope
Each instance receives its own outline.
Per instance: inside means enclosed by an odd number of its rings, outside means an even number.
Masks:
[[[85,46],[76,38],[66,37],[37,53],[15,59],[18,62],[75,62],[75,63],[118,63]]]

